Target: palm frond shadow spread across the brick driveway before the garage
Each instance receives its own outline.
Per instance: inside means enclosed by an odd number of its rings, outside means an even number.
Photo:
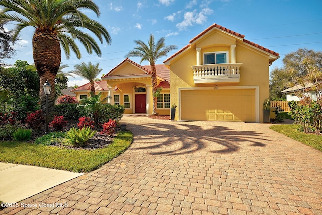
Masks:
[[[146,119],[150,121],[147,117]],[[154,122],[126,121],[137,142],[131,149],[151,149],[152,151],[148,151],[151,155],[188,154],[206,147],[212,153],[233,153],[238,152],[244,144],[265,147],[265,142],[268,141],[262,133],[216,126],[213,125],[214,122]],[[236,123],[231,125],[238,126]],[[239,126],[243,125],[246,123],[239,123]]]

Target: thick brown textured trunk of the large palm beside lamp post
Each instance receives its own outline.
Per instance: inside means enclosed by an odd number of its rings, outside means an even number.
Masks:
[[[51,87],[51,93],[48,96],[48,110],[54,111],[55,104],[55,77],[58,72],[61,61],[60,43],[57,34],[49,31],[36,29],[32,39],[33,57],[37,73],[40,78],[40,104],[41,110],[46,110],[46,95],[42,85],[48,79]]]

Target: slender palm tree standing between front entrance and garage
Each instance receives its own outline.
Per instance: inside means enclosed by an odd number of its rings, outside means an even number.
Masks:
[[[150,34],[148,44],[145,44],[142,40],[134,40],[136,47],[130,51],[126,57],[141,57],[141,63],[146,60],[151,65],[151,82],[152,82],[152,93],[153,93],[153,113],[152,115],[158,115],[156,112],[157,105],[157,78],[155,62],[163,56],[167,56],[167,53],[177,49],[176,45],[165,45],[165,38],[160,38],[156,44],[154,43],[154,35]]]

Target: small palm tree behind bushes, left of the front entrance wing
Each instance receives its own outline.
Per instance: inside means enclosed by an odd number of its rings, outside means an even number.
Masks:
[[[94,86],[94,79],[101,73],[103,69],[99,68],[100,63],[86,64],[82,62],[81,64],[74,65],[75,70],[70,71],[70,73],[76,74],[78,76],[82,76],[83,78],[87,79],[91,84],[91,96],[95,95],[95,86]]]

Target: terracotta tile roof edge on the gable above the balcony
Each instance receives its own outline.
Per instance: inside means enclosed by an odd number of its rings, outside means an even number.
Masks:
[[[197,36],[195,36],[193,39],[191,39],[191,40],[189,41],[189,44],[188,44],[188,45],[186,45],[185,47],[183,47],[182,49],[180,49],[177,53],[173,54],[173,55],[172,55],[172,56],[170,56],[168,59],[166,59],[165,61],[163,61],[163,63],[166,63],[167,61],[171,60],[171,59],[172,59],[172,58],[174,58],[175,56],[179,55],[181,52],[183,52],[184,50],[186,50],[187,48],[189,48],[189,47],[191,46],[191,43],[193,43],[194,41],[196,41],[197,39],[199,39],[200,37],[202,37],[204,34],[206,34],[207,32],[209,32],[209,31],[210,31],[211,29],[213,29],[213,28],[219,28],[219,29],[221,29],[221,30],[223,30],[223,31],[226,31],[227,33],[230,33],[230,34],[233,34],[233,35],[235,35],[235,36],[237,36],[237,37],[242,38],[242,39],[243,39],[243,42],[245,42],[245,43],[247,43],[247,44],[250,44],[250,45],[252,45],[252,46],[254,46],[254,47],[256,47],[256,48],[259,48],[259,49],[261,49],[261,50],[263,50],[263,51],[266,51],[266,52],[268,52],[268,53],[270,53],[270,54],[273,54],[273,55],[275,55],[275,56],[279,56],[279,53],[276,53],[276,52],[274,52],[274,51],[272,51],[272,50],[269,50],[269,49],[267,49],[267,48],[264,48],[263,46],[260,46],[260,45],[258,45],[258,44],[256,44],[256,43],[253,43],[253,42],[250,42],[250,41],[248,41],[248,40],[244,39],[244,37],[245,37],[245,36],[244,36],[243,34],[239,34],[239,33],[234,32],[234,31],[232,31],[232,30],[230,30],[230,29],[228,29],[228,28],[225,28],[225,27],[223,27],[223,26],[221,26],[221,25],[218,25],[218,24],[214,23],[213,25],[211,25],[211,26],[209,26],[207,29],[205,29],[203,32],[201,32],[200,34],[198,34]]]

